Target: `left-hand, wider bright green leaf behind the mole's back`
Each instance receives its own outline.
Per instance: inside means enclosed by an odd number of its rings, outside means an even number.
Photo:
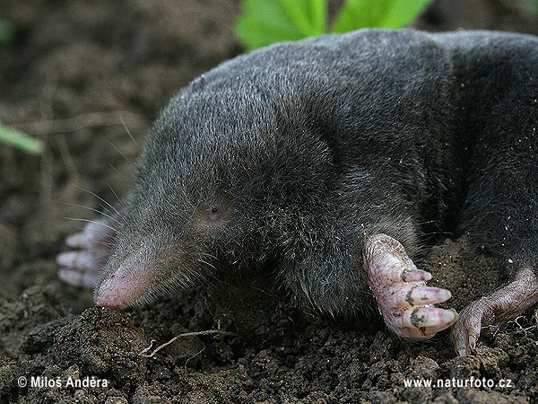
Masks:
[[[236,33],[248,50],[326,32],[326,0],[246,0]]]

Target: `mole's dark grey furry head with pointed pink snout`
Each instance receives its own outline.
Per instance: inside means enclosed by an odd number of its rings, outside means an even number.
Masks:
[[[299,111],[241,93],[179,96],[158,119],[98,305],[147,302],[207,271],[261,264],[324,194],[330,157]]]

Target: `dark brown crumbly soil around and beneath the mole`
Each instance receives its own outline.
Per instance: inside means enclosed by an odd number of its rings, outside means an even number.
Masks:
[[[0,146],[1,402],[538,402],[534,312],[456,357],[447,332],[413,344],[375,316],[300,312],[270,275],[122,311],[96,308],[91,292],[61,284],[55,256],[65,236],[126,194],[158,111],[242,51],[233,34],[239,4],[7,0],[2,11],[16,31],[0,44],[0,122],[47,150],[36,157]],[[538,33],[533,14],[499,0],[440,0],[417,26]],[[500,285],[499,262],[447,236],[421,268],[461,310]],[[183,333],[195,334],[146,357]],[[404,385],[472,376],[511,385]],[[29,384],[19,387],[21,377]],[[91,377],[94,385],[82,383]]]

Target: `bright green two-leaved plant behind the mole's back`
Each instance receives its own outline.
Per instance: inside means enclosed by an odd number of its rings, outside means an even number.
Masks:
[[[244,0],[236,33],[247,50],[360,28],[402,28],[432,0],[346,0],[328,27],[328,0]]]

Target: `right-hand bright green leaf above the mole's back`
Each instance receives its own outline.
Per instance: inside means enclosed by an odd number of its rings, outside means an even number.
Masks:
[[[402,28],[416,20],[432,0],[346,0],[332,31],[360,28]]]

